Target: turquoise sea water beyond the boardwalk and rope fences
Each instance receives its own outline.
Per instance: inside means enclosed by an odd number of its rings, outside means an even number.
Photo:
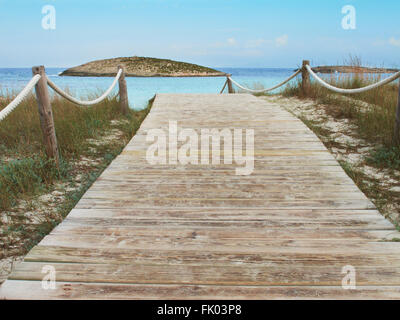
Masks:
[[[246,69],[217,68],[239,83],[252,86],[272,87],[293,74],[293,69]],[[107,89],[112,78],[106,77],[60,77],[65,68],[48,68],[46,73],[51,80],[74,96],[92,99]],[[29,68],[0,69],[0,91],[19,92],[31,79]],[[212,78],[127,78],[130,107],[142,109],[156,93],[219,93],[225,83],[225,77]],[[293,81],[293,80],[292,80]],[[117,93],[118,86],[114,89]]]

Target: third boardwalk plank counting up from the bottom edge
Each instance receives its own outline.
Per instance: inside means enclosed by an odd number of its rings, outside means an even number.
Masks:
[[[100,259],[101,257],[101,259]],[[150,249],[121,249],[121,248],[76,248],[38,245],[32,249],[25,258],[27,262],[47,263],[103,263],[103,264],[180,264],[215,266],[225,265],[275,265],[291,263],[298,268],[303,266],[387,266],[393,264],[399,266],[400,256],[396,253],[381,252],[337,252],[337,253],[307,253],[307,252],[248,252],[236,251],[227,253],[224,251],[204,250],[168,250]]]

